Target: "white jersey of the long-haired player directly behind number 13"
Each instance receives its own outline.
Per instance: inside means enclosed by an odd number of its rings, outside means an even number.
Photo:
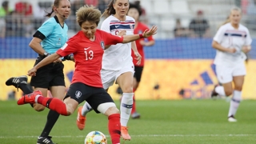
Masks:
[[[113,15],[102,22],[101,30],[117,35],[119,30],[126,30],[126,35],[134,34],[135,20],[126,16],[126,21],[119,21]],[[133,63],[131,57],[131,42],[111,45],[105,50],[102,58],[102,69],[121,70],[123,66]]]

